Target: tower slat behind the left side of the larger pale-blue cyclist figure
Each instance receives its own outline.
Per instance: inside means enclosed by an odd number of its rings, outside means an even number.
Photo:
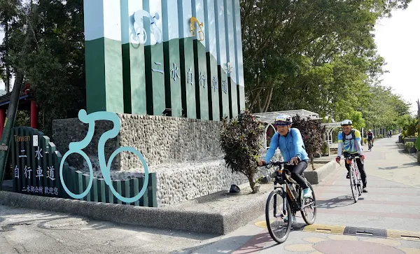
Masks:
[[[144,44],[137,33],[143,22],[134,24],[134,13],[143,9],[142,0],[121,0],[121,43],[123,50],[124,111],[146,115]]]

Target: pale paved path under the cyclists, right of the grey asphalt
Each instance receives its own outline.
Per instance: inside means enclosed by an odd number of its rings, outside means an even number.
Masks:
[[[357,203],[344,165],[316,185],[317,225],[308,227],[315,231],[294,231],[285,243],[275,244],[263,227],[262,215],[193,253],[420,253],[420,165],[402,153],[397,140],[398,136],[377,140],[372,152],[365,151],[369,193],[363,193]],[[303,223],[302,218],[297,222]],[[359,232],[365,228],[377,237],[344,235],[349,227]]]

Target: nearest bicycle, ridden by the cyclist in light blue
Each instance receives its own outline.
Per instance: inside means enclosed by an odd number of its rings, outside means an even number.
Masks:
[[[312,190],[312,196],[304,199],[302,188],[291,178],[287,164],[288,162],[269,162],[266,164],[267,168],[279,167],[274,172],[274,190],[269,193],[265,204],[265,222],[269,235],[279,244],[286,241],[290,234],[293,223],[292,214],[300,211],[304,222],[308,225],[313,224],[316,218],[314,189],[307,181],[307,185]],[[306,181],[306,178],[304,179]],[[271,216],[274,218],[270,218]]]

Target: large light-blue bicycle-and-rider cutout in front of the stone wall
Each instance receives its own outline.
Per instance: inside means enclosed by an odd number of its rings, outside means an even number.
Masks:
[[[102,136],[99,138],[99,143],[98,143],[99,168],[102,172],[102,176],[104,177],[104,181],[106,185],[109,186],[111,192],[113,193],[115,197],[117,197],[118,199],[120,199],[120,201],[125,202],[127,204],[132,203],[132,202],[137,202],[137,200],[139,200],[144,195],[144,192],[146,192],[148,188],[147,187],[148,180],[149,180],[148,179],[149,178],[148,166],[146,164],[146,160],[144,160],[143,155],[141,155],[141,153],[135,148],[132,148],[129,146],[123,146],[123,147],[118,148],[111,154],[111,157],[109,157],[108,162],[106,162],[105,160],[106,141],[109,139],[115,138],[120,133],[121,122],[120,122],[120,118],[118,118],[118,115],[116,113],[112,113],[108,111],[100,111],[100,112],[87,114],[84,109],[81,109],[78,112],[78,118],[81,122],[87,123],[89,127],[87,130],[85,139],[83,139],[82,141],[71,142],[69,144],[69,150],[62,157],[61,163],[59,165],[59,178],[60,178],[60,181],[62,183],[62,187],[64,188],[64,190],[67,192],[67,194],[70,197],[73,197],[73,199],[83,199],[83,197],[85,197],[87,193],[89,193],[90,189],[92,188],[92,183],[93,183],[93,168],[92,168],[92,162],[90,162],[90,159],[89,157],[87,157],[86,153],[83,152],[83,149],[86,148],[92,141],[93,134],[94,134],[94,122],[97,120],[109,120],[113,122],[113,128],[110,129],[109,131],[104,132],[104,134],[102,134]],[[143,167],[144,167],[144,185],[141,188],[139,194],[135,195],[134,197],[123,197],[122,195],[120,195],[120,193],[116,191],[115,188],[113,188],[113,185],[112,185],[111,164],[113,162],[113,159],[116,157],[116,155],[118,155],[118,153],[121,153],[121,152],[134,153],[134,155],[137,155],[137,157],[139,157],[141,164],[143,164]],[[69,155],[73,153],[78,153],[79,155],[82,155],[82,157],[86,160],[87,165],[89,167],[89,175],[90,175],[89,183],[87,184],[86,190],[80,194],[75,194],[71,192],[69,188],[67,188],[66,183],[64,183],[64,178],[63,178],[64,161],[66,160],[66,157],[68,157]]]

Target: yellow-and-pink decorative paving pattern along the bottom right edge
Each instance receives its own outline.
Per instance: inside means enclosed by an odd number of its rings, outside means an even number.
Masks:
[[[331,234],[328,237],[305,237],[310,244],[290,244],[286,251],[309,254],[351,254],[359,253],[419,254],[420,248],[402,248],[399,241],[382,238],[358,239],[355,236]],[[365,250],[365,251],[363,251]]]

